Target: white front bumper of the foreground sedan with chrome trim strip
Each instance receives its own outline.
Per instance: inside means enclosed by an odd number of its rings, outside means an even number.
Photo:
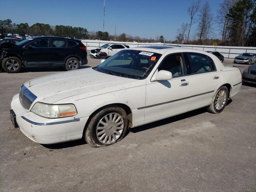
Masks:
[[[49,119],[27,112],[20,104],[18,94],[12,98],[11,109],[21,132],[40,144],[54,144],[82,138],[85,118]]]

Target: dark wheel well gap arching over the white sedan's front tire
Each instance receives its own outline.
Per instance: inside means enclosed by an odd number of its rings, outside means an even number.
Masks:
[[[106,109],[106,108],[110,108],[110,107],[120,107],[120,108],[123,108],[127,114],[127,118],[128,118],[128,128],[132,127],[132,110],[130,109],[129,106],[127,106],[126,104],[122,104],[122,103],[113,103],[113,104],[108,104],[108,105],[105,105],[99,109],[97,109],[96,111],[94,111],[88,118],[86,124],[85,124],[85,127],[84,127],[84,132],[83,132],[83,135],[86,131],[86,128],[88,126],[88,124],[90,123],[91,119],[94,117],[94,115],[96,115],[98,112],[100,112],[101,110],[103,109]]]

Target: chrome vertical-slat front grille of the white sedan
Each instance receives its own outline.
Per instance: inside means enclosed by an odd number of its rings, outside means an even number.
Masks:
[[[28,88],[24,85],[20,88],[20,104],[25,108],[29,109],[31,104],[36,100],[37,96],[35,96]]]

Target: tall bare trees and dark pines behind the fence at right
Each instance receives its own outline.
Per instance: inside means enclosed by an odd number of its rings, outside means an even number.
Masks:
[[[201,5],[200,0],[196,0],[187,12],[189,20],[178,28],[174,43],[256,46],[256,0],[223,0],[216,16],[208,2]],[[194,24],[197,27],[191,38]],[[219,34],[215,34],[216,28]]]

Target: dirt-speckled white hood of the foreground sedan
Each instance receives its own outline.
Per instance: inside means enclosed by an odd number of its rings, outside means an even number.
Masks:
[[[24,85],[37,96],[35,102],[58,100],[90,92],[90,96],[122,89],[122,84],[139,81],[98,72],[92,68],[62,72],[30,80]],[[93,92],[93,93],[92,93]]]

